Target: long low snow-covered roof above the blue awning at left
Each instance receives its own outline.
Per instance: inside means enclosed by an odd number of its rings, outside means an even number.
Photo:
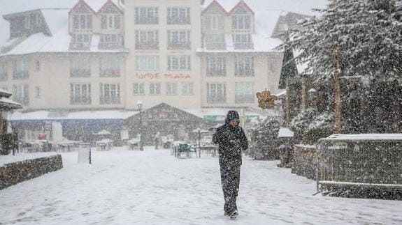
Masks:
[[[106,119],[127,119],[130,116],[138,114],[138,111],[125,110],[91,110],[91,111],[71,111],[64,113],[55,113],[54,111],[31,111],[15,112],[8,118],[10,121],[33,121],[33,120],[106,120]]]

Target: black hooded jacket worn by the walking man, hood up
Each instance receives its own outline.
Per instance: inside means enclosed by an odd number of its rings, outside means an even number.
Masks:
[[[239,118],[237,111],[229,111],[224,125],[213,134],[213,143],[219,145],[219,163],[221,166],[241,165],[241,153],[248,148],[247,137],[242,127],[232,127],[231,117]]]

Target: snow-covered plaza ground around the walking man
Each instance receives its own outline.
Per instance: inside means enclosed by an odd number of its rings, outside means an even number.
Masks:
[[[312,196],[315,183],[245,158],[239,217],[223,216],[215,157],[169,150],[62,153],[64,169],[0,191],[0,224],[402,224],[402,201]]]

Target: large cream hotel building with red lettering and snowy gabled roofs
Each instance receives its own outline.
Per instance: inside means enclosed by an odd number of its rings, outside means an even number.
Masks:
[[[272,34],[288,24],[280,23],[287,13],[257,10],[253,2],[66,0],[64,7],[7,13],[0,88],[23,105],[10,120],[57,120],[67,133],[63,118],[109,111],[124,121],[138,101],[145,110],[181,109],[201,122],[222,120],[227,108],[262,115],[255,93],[281,91],[282,52],[275,47],[282,42]],[[81,118],[67,115],[78,111]]]

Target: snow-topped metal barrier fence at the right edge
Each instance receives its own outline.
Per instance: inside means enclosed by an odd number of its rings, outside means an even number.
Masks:
[[[317,189],[402,190],[402,134],[333,134],[317,143]]]

